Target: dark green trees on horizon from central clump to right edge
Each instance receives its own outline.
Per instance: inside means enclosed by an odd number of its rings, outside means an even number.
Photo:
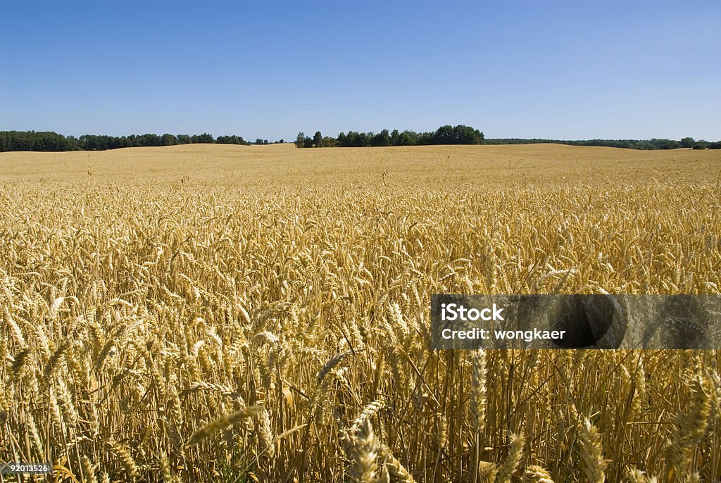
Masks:
[[[429,133],[416,133],[412,130],[399,131],[397,129],[381,130],[380,133],[360,133],[348,131],[340,133],[337,138],[323,136],[316,131],[311,138],[305,133],[298,133],[296,137],[297,148],[362,148],[366,146],[428,146],[436,144],[535,144],[535,143],[556,143],[570,146],[606,146],[609,148],[626,149],[721,149],[721,141],[711,143],[709,141],[694,138],[682,138],[680,141],[673,139],[590,139],[588,141],[563,141],[557,139],[519,139],[519,138],[498,138],[486,139],[482,132],[466,125],[444,125]]]

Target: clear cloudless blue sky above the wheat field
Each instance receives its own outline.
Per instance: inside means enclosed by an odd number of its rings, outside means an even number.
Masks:
[[[721,2],[5,1],[0,130],[721,139]]]

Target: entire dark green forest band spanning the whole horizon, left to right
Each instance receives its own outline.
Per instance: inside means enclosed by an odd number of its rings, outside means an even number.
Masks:
[[[273,142],[284,143],[283,139]],[[131,136],[96,136],[86,134],[76,138],[63,136],[52,131],[0,131],[0,152],[2,151],[104,151],[106,149],[131,148],[142,146],[175,146],[177,144],[217,143],[217,144],[270,144],[267,139],[256,139],[255,143],[245,141],[242,136],[218,136],[203,133],[188,134],[141,134]],[[562,141],[555,139],[486,139],[482,132],[466,125],[445,125],[428,133],[416,133],[412,130],[381,130],[380,133],[361,133],[348,131],[336,138],[322,136],[320,131],[312,138],[298,133],[295,144],[298,148],[332,148],[365,146],[428,146],[436,144],[531,144],[557,143],[570,146],[608,146],[627,149],[721,149],[721,141],[696,141],[694,138],[649,139],[591,139],[588,141]]]

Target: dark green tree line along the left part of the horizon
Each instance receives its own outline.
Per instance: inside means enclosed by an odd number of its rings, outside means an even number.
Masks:
[[[283,143],[283,139],[275,141]],[[175,146],[177,144],[251,144],[242,136],[218,136],[211,134],[131,134],[131,136],[97,136],[86,134],[76,138],[63,136],[52,131],[0,131],[0,152],[2,151],[105,151],[106,149],[133,148],[143,146]],[[256,144],[270,144],[267,139],[256,139]]]

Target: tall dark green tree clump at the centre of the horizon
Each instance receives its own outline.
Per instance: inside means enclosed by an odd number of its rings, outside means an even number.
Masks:
[[[340,133],[337,138],[322,136],[316,131],[312,138],[305,133],[298,133],[298,148],[363,148],[366,146],[427,146],[430,144],[482,144],[483,133],[467,125],[444,125],[433,132],[416,133],[412,130],[400,132],[397,129],[381,130],[380,133],[361,133],[350,130],[348,134]]]

